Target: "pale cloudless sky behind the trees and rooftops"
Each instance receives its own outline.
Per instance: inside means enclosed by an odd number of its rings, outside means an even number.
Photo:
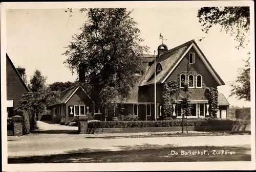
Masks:
[[[67,59],[62,55],[69,45],[72,35],[86,21],[84,13],[73,9],[72,16],[66,9],[15,9],[6,12],[7,54],[14,65],[26,68],[28,78],[35,69],[47,76],[47,83],[73,82],[76,75],[63,64]],[[130,10],[130,9],[129,9]],[[249,102],[229,97],[230,82],[236,80],[238,68],[243,67],[243,59],[248,58],[248,48],[237,50],[238,42],[220,26],[213,27],[208,34],[201,31],[196,7],[182,8],[135,8],[132,17],[137,21],[144,39],[143,45],[150,47],[150,54],[162,43],[161,33],[168,49],[195,39],[198,46],[218,72],[226,85],[219,86],[230,105],[250,106]],[[199,39],[205,37],[203,41]]]

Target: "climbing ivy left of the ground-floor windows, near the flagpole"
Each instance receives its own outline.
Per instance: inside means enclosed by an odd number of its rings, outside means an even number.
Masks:
[[[169,118],[173,114],[173,95],[179,89],[177,81],[169,81],[163,85],[163,112],[164,119]]]

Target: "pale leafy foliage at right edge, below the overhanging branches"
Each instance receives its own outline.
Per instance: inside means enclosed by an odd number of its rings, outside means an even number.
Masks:
[[[239,69],[239,76],[231,83],[231,93],[229,96],[236,96],[238,99],[251,99],[250,87],[250,58],[245,61],[245,67]]]

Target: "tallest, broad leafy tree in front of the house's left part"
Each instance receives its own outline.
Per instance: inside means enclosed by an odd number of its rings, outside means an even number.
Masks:
[[[70,9],[70,12],[72,9]],[[64,53],[64,62],[74,72],[84,72],[96,104],[110,105],[127,99],[141,71],[140,55],[148,47],[140,43],[140,30],[125,8],[80,9],[87,21]],[[67,11],[66,11],[67,12]],[[82,69],[82,70],[79,70]],[[81,76],[80,76],[81,77]]]

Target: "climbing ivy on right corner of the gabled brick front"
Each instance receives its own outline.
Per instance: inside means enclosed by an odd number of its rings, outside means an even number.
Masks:
[[[205,90],[208,103],[209,103],[209,109],[210,109],[210,114],[213,117],[217,117],[217,112],[219,110],[219,105],[218,105],[218,89],[217,88],[212,88],[212,87],[207,87]]]

